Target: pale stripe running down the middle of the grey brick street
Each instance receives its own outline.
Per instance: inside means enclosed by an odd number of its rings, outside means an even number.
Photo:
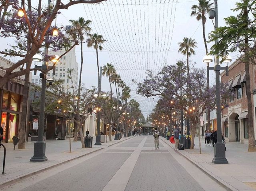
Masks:
[[[140,156],[140,152],[146,142],[145,137],[130,157],[124,162],[116,174],[110,179],[102,191],[124,191],[130,179],[134,166]]]

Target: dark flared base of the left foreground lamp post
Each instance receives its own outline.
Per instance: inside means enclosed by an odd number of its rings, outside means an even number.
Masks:
[[[37,141],[34,143],[34,156],[30,159],[31,162],[44,162],[47,161],[45,156],[46,142]]]

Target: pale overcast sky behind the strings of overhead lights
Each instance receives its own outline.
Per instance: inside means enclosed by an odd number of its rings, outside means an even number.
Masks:
[[[46,0],[42,2],[47,4]],[[69,0],[62,2],[65,4]],[[218,0],[219,26],[225,25],[223,18],[235,15],[230,9],[235,7],[236,2],[238,0]],[[154,108],[157,97],[145,98],[136,94],[137,86],[132,80],[142,82],[146,70],[157,73],[165,64],[175,64],[179,59],[185,61],[186,58],[178,53],[178,42],[182,42],[184,37],[192,37],[198,43],[196,55],[190,60],[196,63],[196,67],[206,68],[202,63],[205,55],[202,22],[190,17],[193,4],[198,4],[198,0],[106,0],[99,4],[78,4],[68,10],[60,10],[56,22],[60,27],[70,25],[70,19],[77,20],[79,17],[92,21],[91,33],[101,34],[107,40],[102,45],[104,49],[99,52],[100,66],[106,63],[115,66],[131,88],[131,98],[140,103],[146,118]],[[206,21],[205,28],[206,35],[214,30],[212,20]],[[210,46],[208,44],[208,49]],[[80,53],[80,47],[76,47],[79,64]],[[82,83],[88,88],[97,86],[96,51],[87,48],[86,43],[83,57]],[[231,54],[231,57],[233,62],[236,55]],[[211,85],[215,83],[214,76],[214,71],[210,71]],[[110,91],[106,77],[102,77],[102,90]]]

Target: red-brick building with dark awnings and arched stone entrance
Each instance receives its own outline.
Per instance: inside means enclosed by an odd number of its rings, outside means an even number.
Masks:
[[[255,72],[255,66],[250,65],[251,93],[255,92],[256,87]],[[226,71],[221,73],[221,81],[228,83],[228,88],[232,91],[229,100],[227,100],[228,107],[222,110],[222,133],[225,139],[230,142],[248,143],[247,114],[248,110],[254,111],[255,124],[256,107],[255,104],[252,108],[247,107],[245,63],[240,60],[234,61],[228,67],[228,73],[229,76],[226,76]]]

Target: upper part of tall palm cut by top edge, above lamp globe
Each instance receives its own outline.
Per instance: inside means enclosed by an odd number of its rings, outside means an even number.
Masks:
[[[205,37],[205,23],[206,23],[205,15],[211,10],[212,4],[213,3],[210,3],[210,0],[198,0],[198,5],[193,5],[191,7],[192,12],[190,15],[190,16],[196,16],[196,20],[198,21],[202,20],[203,38],[204,38],[204,46],[205,46],[206,54],[208,54],[208,49],[207,49],[207,43],[206,43],[206,37]]]

